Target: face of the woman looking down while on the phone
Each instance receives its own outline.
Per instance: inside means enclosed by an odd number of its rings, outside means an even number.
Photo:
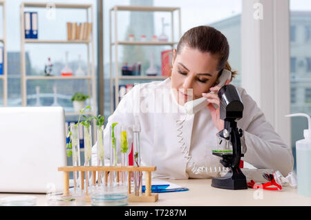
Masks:
[[[173,51],[172,64],[171,88],[181,105],[201,98],[217,80],[218,59],[210,53],[184,46],[178,55]]]

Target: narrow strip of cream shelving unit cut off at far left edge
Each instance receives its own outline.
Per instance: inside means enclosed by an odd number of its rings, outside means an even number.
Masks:
[[[3,38],[0,42],[3,44],[3,75],[0,75],[0,80],[3,82],[3,107],[8,104],[8,55],[6,53],[6,1],[0,1],[2,6],[2,22],[3,22]]]

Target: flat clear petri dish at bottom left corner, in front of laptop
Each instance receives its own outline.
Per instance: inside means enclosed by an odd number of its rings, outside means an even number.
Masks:
[[[37,204],[35,196],[7,196],[0,199],[1,206],[33,206]]]

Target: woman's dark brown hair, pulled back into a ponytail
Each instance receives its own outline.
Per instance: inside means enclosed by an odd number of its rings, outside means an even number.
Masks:
[[[180,38],[177,45],[177,54],[180,53],[184,46],[198,49],[202,53],[209,52],[212,55],[217,55],[219,59],[217,71],[221,71],[223,68],[232,71],[227,61],[229,57],[229,44],[225,35],[219,30],[211,26],[197,26],[191,28]],[[232,77],[235,75],[236,71],[233,71]]]

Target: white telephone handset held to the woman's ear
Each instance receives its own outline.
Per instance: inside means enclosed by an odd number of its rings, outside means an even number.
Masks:
[[[223,73],[221,73],[221,75],[218,79],[219,83],[217,86],[221,87],[221,86],[225,85],[225,82],[227,80],[231,80],[231,75],[232,75],[231,71],[228,71],[227,69],[224,68]],[[211,93],[214,93],[214,92],[211,91]],[[196,100],[186,102],[184,107],[186,108],[187,113],[189,115],[191,115],[191,114],[194,114],[194,113],[200,111],[204,107],[206,107],[207,104],[209,104],[209,102],[207,101],[207,98],[202,97],[202,98],[198,98]]]

